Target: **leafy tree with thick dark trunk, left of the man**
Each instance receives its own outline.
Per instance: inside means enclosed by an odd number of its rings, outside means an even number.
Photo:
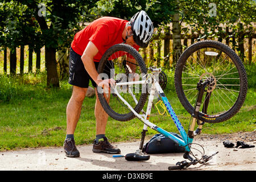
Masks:
[[[70,47],[73,36],[80,29],[80,20],[89,14],[88,12],[95,5],[95,2],[92,0],[23,0],[3,1],[3,4],[6,4],[7,7],[15,5],[16,10],[9,11],[9,15],[12,15],[13,18],[6,24],[6,27],[10,27],[13,23],[15,31],[9,31],[10,36],[7,34],[3,35],[5,39],[2,38],[2,40],[6,40],[5,43],[7,43],[10,37],[13,39],[10,43],[15,43],[15,46],[17,46],[17,43],[20,43],[18,41],[20,37],[26,35],[27,41],[23,42],[31,42],[31,47],[34,50],[45,46],[47,86],[58,87],[59,77],[56,66],[56,51],[63,47]],[[8,15],[8,13],[6,14]],[[23,24],[23,26],[18,28],[20,24],[14,24],[14,22],[20,22],[20,17],[23,18],[24,22],[31,22],[31,24]],[[14,21],[15,19],[17,21]],[[18,30],[20,31],[17,32]],[[20,34],[20,32],[23,33]],[[28,34],[28,32],[30,33]],[[8,44],[9,46],[11,45]]]

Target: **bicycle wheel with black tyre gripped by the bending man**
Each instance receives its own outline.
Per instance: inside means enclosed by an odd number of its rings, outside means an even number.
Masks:
[[[109,60],[111,64],[106,64]],[[109,68],[111,67],[111,68]],[[147,73],[146,65],[139,52],[127,44],[116,44],[110,47],[102,56],[100,64],[98,65],[98,73],[106,73],[111,71],[110,75],[114,78],[115,82],[129,82],[139,81]],[[133,78],[136,73],[136,78]],[[136,79],[136,80],[134,80]],[[140,113],[143,109],[147,99],[146,85],[123,85],[118,86],[118,93],[128,102],[133,109]],[[127,107],[127,105],[114,93],[110,93],[110,101],[106,100],[104,93],[98,91],[98,99],[102,107],[117,121],[129,121],[135,117],[134,113]]]

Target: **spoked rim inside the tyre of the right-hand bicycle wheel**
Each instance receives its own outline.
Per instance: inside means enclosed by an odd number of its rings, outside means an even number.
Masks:
[[[241,78],[236,63],[218,48],[200,48],[191,53],[183,64],[181,86],[187,102],[195,105],[197,82],[211,80],[207,92],[209,98],[208,115],[221,115],[232,109],[241,92]],[[209,95],[208,95],[209,96]],[[207,97],[203,97],[201,108]]]

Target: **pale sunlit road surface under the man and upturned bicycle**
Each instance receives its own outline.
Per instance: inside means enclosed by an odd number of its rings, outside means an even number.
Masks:
[[[249,137],[244,137],[249,136]],[[225,148],[224,140],[236,143],[237,140],[246,141],[255,145],[255,131],[253,133],[240,133],[236,135],[203,135],[195,138],[194,143],[203,146],[205,154],[218,154],[213,156],[207,164],[196,164],[185,170],[217,170],[217,171],[255,171],[256,149],[254,148]],[[123,155],[135,152],[139,148],[139,141],[126,143],[112,143],[121,149]],[[195,147],[201,150],[200,146]],[[125,158],[113,158],[111,154],[93,153],[92,145],[77,146],[80,158],[68,158],[63,147],[37,148],[20,151],[0,152],[0,170],[15,171],[168,171],[169,166],[175,165],[183,159],[183,153],[152,154],[144,162],[130,162]],[[194,153],[200,158],[200,153]]]

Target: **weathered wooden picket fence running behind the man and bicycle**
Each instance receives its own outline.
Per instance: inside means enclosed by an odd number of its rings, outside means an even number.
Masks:
[[[194,42],[197,42],[199,40],[204,39],[217,39],[218,41],[228,44],[230,47],[232,47],[238,55],[241,57],[242,61],[244,62],[246,60],[246,63],[254,63],[255,62],[255,38],[256,34],[253,33],[252,29],[249,31],[241,31],[240,34],[235,36],[232,31],[229,31],[229,28],[226,27],[225,31],[218,31],[216,34],[218,38],[213,37],[203,37],[203,34],[198,34],[195,32],[192,32],[191,34],[181,34],[181,43],[183,47],[188,47]],[[214,36],[216,37],[216,36]],[[162,59],[162,62],[169,62],[169,65],[172,64],[172,57],[170,56],[172,53],[172,34],[165,34],[161,36],[162,40],[161,46],[158,46],[157,43],[159,43],[159,37],[156,36],[154,38],[154,41],[148,46],[147,48],[141,49],[141,54],[143,56],[143,59],[146,60],[146,63],[149,64],[150,60],[156,60],[154,61],[154,64],[158,64],[157,61],[161,61],[159,57]],[[153,44],[156,44],[155,46]],[[19,55],[17,56],[17,50],[19,52]],[[42,52],[43,50],[43,52]],[[13,52],[10,49],[5,49],[4,51],[0,52],[0,74],[3,73],[20,73],[23,74],[24,72],[35,72],[42,71],[42,56],[44,57],[44,48],[38,50],[38,51],[32,51],[26,46],[26,49],[24,46],[16,48]],[[158,55],[157,55],[158,54]],[[26,56],[25,56],[26,55]],[[28,55],[28,56],[27,56]],[[33,55],[36,55],[36,59],[33,61]],[[19,57],[19,59],[17,59]],[[26,71],[24,71],[24,63],[25,63],[25,57],[26,61],[28,62],[28,68],[26,68]],[[7,61],[10,60],[10,61]],[[19,61],[18,61],[19,60]],[[44,61],[44,60],[43,60]],[[34,62],[34,65],[33,65]],[[58,61],[57,61],[58,62]],[[9,63],[9,65],[7,65]],[[19,67],[17,67],[19,65]],[[10,69],[7,70],[7,67]],[[44,67],[44,65],[43,65]],[[1,70],[2,69],[2,70]],[[19,71],[19,72],[16,72]]]

